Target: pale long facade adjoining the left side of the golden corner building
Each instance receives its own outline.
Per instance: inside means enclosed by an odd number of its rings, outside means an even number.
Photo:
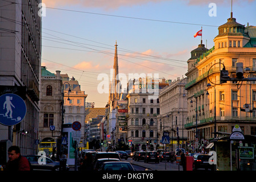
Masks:
[[[188,113],[186,84],[187,78],[177,78],[159,93],[158,142],[162,149],[186,148],[187,130],[184,128]],[[168,133],[170,144],[162,144],[164,133]]]

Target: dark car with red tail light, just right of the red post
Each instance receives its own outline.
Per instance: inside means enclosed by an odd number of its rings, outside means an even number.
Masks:
[[[206,170],[211,169],[213,171],[214,165],[209,164],[210,157],[211,155],[207,155],[207,154],[196,155],[196,160],[194,160],[194,163],[193,163],[193,169],[197,170],[199,168],[204,168]]]

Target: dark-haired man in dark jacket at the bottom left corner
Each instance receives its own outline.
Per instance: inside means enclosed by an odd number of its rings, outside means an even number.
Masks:
[[[9,160],[6,164],[5,171],[31,171],[31,164],[27,158],[20,154],[18,146],[11,146],[8,149]]]

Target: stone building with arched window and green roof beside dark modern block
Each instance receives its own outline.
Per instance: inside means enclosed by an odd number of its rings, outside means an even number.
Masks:
[[[60,71],[56,71],[55,75],[47,71],[46,67],[42,67],[39,120],[40,142],[56,142],[61,135],[61,88]],[[55,130],[51,131],[50,126],[54,126]]]

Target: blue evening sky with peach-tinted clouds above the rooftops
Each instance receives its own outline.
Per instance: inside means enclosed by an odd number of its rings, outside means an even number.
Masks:
[[[43,0],[42,66],[79,81],[95,107],[108,104],[98,85],[111,80],[117,42],[119,73],[185,77],[191,51],[214,46],[218,26],[233,18],[256,26],[256,1]],[[214,3],[214,4],[212,4]],[[216,6],[212,6],[216,5]],[[215,8],[216,7],[216,8]],[[232,8],[231,8],[232,7]],[[203,36],[193,35],[203,28]],[[101,77],[102,73],[105,77]],[[100,77],[101,79],[98,79]]]

